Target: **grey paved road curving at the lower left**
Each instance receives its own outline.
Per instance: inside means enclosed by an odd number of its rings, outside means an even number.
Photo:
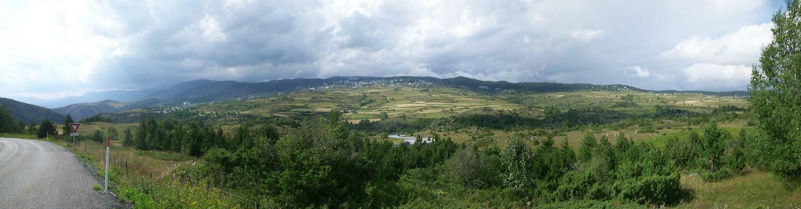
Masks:
[[[54,143],[0,138],[0,208],[120,208],[84,163]]]

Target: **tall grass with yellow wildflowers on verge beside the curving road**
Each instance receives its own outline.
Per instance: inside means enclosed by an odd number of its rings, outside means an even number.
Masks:
[[[70,143],[60,143],[71,147]],[[105,167],[105,144],[76,143],[74,153],[100,169]],[[113,142],[109,155],[109,187],[135,208],[239,208],[239,199],[225,191],[171,175],[176,167],[192,166],[197,159],[172,152],[137,151]],[[249,205],[249,204],[248,204]]]

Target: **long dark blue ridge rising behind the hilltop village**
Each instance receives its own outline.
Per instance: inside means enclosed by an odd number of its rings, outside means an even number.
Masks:
[[[158,98],[160,100],[179,102],[210,102],[231,98],[241,98],[257,94],[275,94],[298,90],[302,88],[322,86],[361,86],[367,82],[404,81],[404,82],[430,82],[437,86],[449,86],[465,90],[522,90],[529,92],[563,92],[574,90],[636,90],[642,92],[656,92],[664,94],[688,93],[708,94],[718,96],[747,95],[747,91],[714,92],[700,90],[642,90],[634,86],[621,84],[594,85],[588,83],[559,83],[559,82],[505,82],[481,81],[474,78],[434,78],[434,77],[332,77],[332,78],[294,78],[272,80],[268,82],[235,82],[195,80],[182,82],[171,88],[156,91],[144,98]]]

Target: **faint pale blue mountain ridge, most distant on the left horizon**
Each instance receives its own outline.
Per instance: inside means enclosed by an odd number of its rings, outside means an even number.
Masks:
[[[70,104],[83,102],[98,102],[103,100],[115,100],[119,102],[133,102],[147,95],[155,93],[155,90],[108,90],[94,91],[77,97],[61,98],[52,102],[43,103],[48,108],[64,107]]]

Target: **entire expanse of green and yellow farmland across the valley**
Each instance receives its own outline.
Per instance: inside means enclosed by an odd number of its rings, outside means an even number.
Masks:
[[[624,97],[629,96],[629,100]],[[508,100],[508,101],[507,101]],[[517,103],[513,103],[517,102]],[[621,105],[628,103],[629,105]],[[634,105],[630,105],[634,103]],[[222,102],[195,104],[195,111],[203,115],[223,115],[207,123],[221,127],[232,135],[235,129],[254,120],[263,119],[295,119],[312,115],[324,115],[331,110],[344,111],[344,119],[356,124],[363,120],[372,123],[407,122],[421,123],[424,127],[412,132],[387,134],[413,134],[430,137],[436,133],[452,139],[456,143],[475,144],[480,147],[490,145],[502,146],[506,139],[515,135],[523,135],[534,141],[544,136],[533,137],[531,132],[537,127],[514,128],[511,130],[493,130],[481,127],[466,127],[457,130],[430,127],[437,119],[454,115],[463,115],[477,110],[528,111],[529,114],[541,118],[541,108],[556,107],[560,110],[601,108],[618,111],[632,116],[651,117],[656,106],[673,107],[681,110],[708,113],[715,107],[734,106],[747,107],[747,101],[738,97],[710,96],[704,94],[652,94],[634,90],[579,90],[551,93],[513,93],[480,94],[471,90],[457,88],[427,89],[421,87],[365,87],[365,88],[333,88],[325,90],[301,90],[287,94],[256,99],[232,99]],[[525,112],[524,111],[524,112]],[[735,119],[720,123],[735,136],[746,126],[747,119]],[[89,134],[95,130],[104,131],[115,127],[123,131],[127,127],[135,127],[135,123],[91,123],[81,127],[81,133]],[[251,129],[261,125],[254,123]],[[631,126],[622,129],[611,128],[579,128],[553,136],[557,143],[567,140],[570,147],[578,147],[579,141],[588,131],[597,138],[602,136],[615,142],[618,133],[637,142],[654,143],[663,147],[667,139],[678,137],[686,139],[690,131],[701,131],[702,124],[688,125],[686,122],[671,120],[654,121],[650,128],[653,131],[642,131],[643,127]],[[286,128],[282,128],[286,129]],[[549,129],[545,129],[549,131]],[[645,132],[645,133],[644,133]],[[400,143],[400,140],[382,139],[377,132],[372,132],[370,139],[388,140]],[[533,145],[534,143],[532,143]]]

